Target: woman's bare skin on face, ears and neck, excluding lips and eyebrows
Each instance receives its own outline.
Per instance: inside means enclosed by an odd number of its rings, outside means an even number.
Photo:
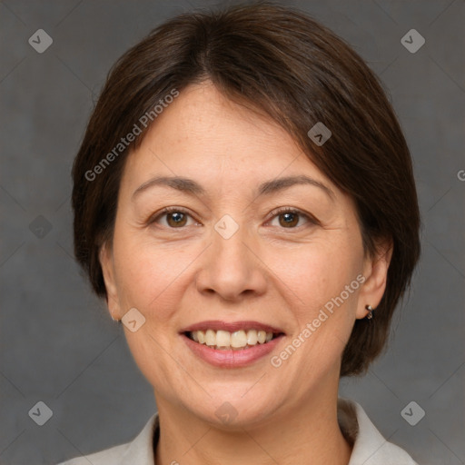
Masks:
[[[310,184],[257,196],[260,183],[302,174],[332,198]],[[134,195],[161,175],[193,179],[205,193],[156,185]],[[161,213],[167,206],[188,211],[181,227],[173,213]],[[279,207],[303,214],[288,216],[290,227],[282,214],[272,216]],[[224,214],[239,225],[227,240],[213,227]],[[279,125],[213,84],[183,90],[127,159],[113,242],[101,251],[112,316],[135,307],[145,318],[138,331],[124,332],[153,385],[161,424],[156,463],[295,465],[312,457],[313,465],[347,464],[351,445],[336,416],[341,353],[365,305],[381,301],[389,260],[385,252],[365,255],[351,198]],[[359,289],[273,367],[270,357],[360,274]],[[218,368],[179,335],[205,320],[264,322],[286,335],[249,367]],[[237,412],[228,424],[215,415],[226,401]]]

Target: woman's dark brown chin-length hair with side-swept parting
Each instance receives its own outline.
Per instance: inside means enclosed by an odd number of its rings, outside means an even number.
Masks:
[[[156,122],[153,108],[173,89],[207,80],[281,124],[351,195],[367,253],[378,239],[391,240],[386,291],[375,318],[355,322],[342,355],[341,376],[366,371],[385,346],[420,255],[411,156],[377,77],[341,38],[298,10],[264,2],[178,15],[117,61],[74,161],[77,261],[94,292],[105,296],[99,251],[113,235],[124,160],[150,127],[141,117],[152,112]],[[321,146],[307,134],[318,122],[332,133]],[[127,147],[118,145],[134,133],[134,124],[142,134]],[[114,151],[117,146],[121,150]]]

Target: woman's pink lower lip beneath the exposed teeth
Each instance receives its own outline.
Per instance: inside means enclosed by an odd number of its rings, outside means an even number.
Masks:
[[[187,344],[189,349],[193,351],[195,355],[207,361],[215,367],[222,368],[239,368],[251,365],[254,361],[257,361],[268,355],[277,344],[282,340],[283,335],[272,339],[264,344],[257,344],[248,349],[239,349],[233,351],[231,350],[221,350],[213,349],[208,345],[195,342],[192,339],[189,339],[185,334],[181,334],[183,341]]]

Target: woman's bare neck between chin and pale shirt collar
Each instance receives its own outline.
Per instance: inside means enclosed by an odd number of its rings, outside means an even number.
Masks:
[[[160,440],[155,463],[191,465],[347,465],[351,445],[337,420],[337,386],[273,413],[266,423],[233,430],[217,428],[183,407],[157,399]]]

